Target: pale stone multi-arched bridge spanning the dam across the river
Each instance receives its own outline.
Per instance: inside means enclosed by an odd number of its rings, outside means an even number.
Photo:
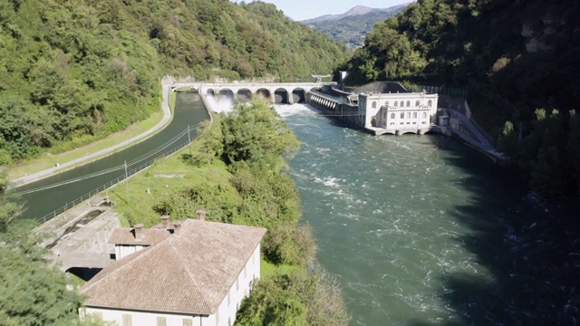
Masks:
[[[321,88],[328,82],[174,82],[173,90],[191,88],[204,96],[212,96],[216,100],[231,99],[249,101],[256,97],[265,98],[273,103],[304,103],[307,94]]]

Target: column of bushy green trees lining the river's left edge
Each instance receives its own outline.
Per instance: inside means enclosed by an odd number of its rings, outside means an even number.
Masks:
[[[314,263],[312,231],[298,224],[300,198],[285,173],[285,158],[300,146],[294,133],[266,101],[238,104],[216,127],[223,132],[221,157],[242,197],[237,221],[266,227],[266,261],[291,267],[265,275],[243,302],[237,323],[348,324],[340,286]]]

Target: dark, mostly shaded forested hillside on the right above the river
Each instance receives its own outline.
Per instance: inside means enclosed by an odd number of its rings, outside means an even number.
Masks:
[[[475,118],[530,186],[580,190],[580,3],[419,0],[377,24],[350,82],[468,88]]]

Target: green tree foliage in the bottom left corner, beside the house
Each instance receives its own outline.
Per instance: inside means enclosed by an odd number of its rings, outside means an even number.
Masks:
[[[15,218],[20,207],[4,197],[5,181],[0,176],[0,324],[78,325],[82,296],[46,262],[31,222]]]

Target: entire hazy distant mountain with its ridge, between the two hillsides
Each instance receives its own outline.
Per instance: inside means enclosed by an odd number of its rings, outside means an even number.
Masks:
[[[371,32],[374,24],[401,13],[407,5],[409,4],[395,5],[389,8],[370,8],[357,5],[344,14],[324,14],[300,23],[309,25],[350,47],[361,47],[364,43],[364,37]]]

